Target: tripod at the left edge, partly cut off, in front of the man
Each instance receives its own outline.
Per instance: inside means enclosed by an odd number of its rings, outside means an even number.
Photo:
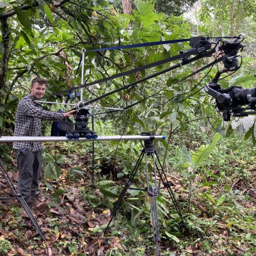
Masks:
[[[8,185],[10,186],[10,188],[12,189],[13,195],[15,195],[15,197],[4,197],[4,198],[0,198],[0,200],[11,200],[11,199],[17,199],[19,200],[20,204],[22,205],[22,207],[24,208],[24,210],[26,211],[26,213],[28,214],[30,220],[32,221],[33,225],[36,228],[36,231],[38,232],[38,234],[40,235],[41,239],[43,241],[45,241],[45,237],[44,237],[44,232],[41,230],[40,226],[38,225],[35,217],[33,216],[31,210],[28,207],[28,204],[26,203],[26,201],[24,200],[24,198],[22,197],[22,195],[17,191],[17,189],[15,188],[12,180],[10,179],[8,173],[6,172],[4,165],[0,159],[0,170],[3,173],[4,178],[6,179]]]

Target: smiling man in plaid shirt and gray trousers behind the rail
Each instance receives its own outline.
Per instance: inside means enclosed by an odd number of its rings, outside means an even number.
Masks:
[[[47,81],[35,77],[31,81],[31,93],[20,100],[15,118],[14,136],[41,136],[41,120],[62,121],[76,110],[67,113],[45,111],[33,100],[41,99],[45,94]],[[42,170],[42,143],[15,142],[17,164],[19,169],[18,191],[29,204],[29,198],[38,196],[38,180]]]

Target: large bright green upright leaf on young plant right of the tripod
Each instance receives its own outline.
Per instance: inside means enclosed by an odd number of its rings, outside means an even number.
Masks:
[[[216,146],[220,139],[221,134],[216,133],[212,140],[212,143],[208,147],[203,145],[202,147],[199,148],[198,152],[193,154],[192,163],[195,168],[198,166],[198,164],[202,163],[208,158],[209,154],[211,154],[212,150],[214,150],[214,147]]]

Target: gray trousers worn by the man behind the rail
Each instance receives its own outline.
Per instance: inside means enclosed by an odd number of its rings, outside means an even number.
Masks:
[[[17,165],[19,169],[18,191],[24,198],[35,195],[42,170],[41,150],[31,152],[24,148],[19,149]]]

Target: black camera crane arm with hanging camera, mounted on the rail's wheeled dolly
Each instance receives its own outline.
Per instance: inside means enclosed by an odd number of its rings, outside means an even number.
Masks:
[[[228,38],[228,40],[226,40],[226,38]],[[112,79],[116,79],[118,77],[127,76],[129,74],[134,74],[135,72],[140,72],[141,70],[145,70],[147,68],[157,67],[158,65],[163,65],[165,63],[170,63],[175,60],[179,60],[179,63],[172,65],[164,70],[161,70],[154,74],[150,74],[149,76],[145,76],[141,79],[137,79],[131,84],[127,84],[120,88],[116,88],[115,90],[107,92],[103,95],[100,95],[99,97],[90,99],[86,103],[81,102],[77,111],[78,115],[76,118],[76,122],[77,122],[76,128],[74,129],[74,131],[71,131],[70,134],[68,134],[68,138],[77,138],[78,136],[77,134],[79,134],[79,136],[86,136],[86,134],[88,134],[88,136],[91,136],[92,133],[95,133],[94,131],[89,130],[87,127],[88,109],[86,109],[86,106],[88,106],[88,104],[97,102],[98,100],[101,100],[105,97],[108,97],[109,95],[112,95],[113,93],[117,93],[127,89],[131,90],[136,86],[136,84],[143,83],[148,79],[151,79],[153,77],[156,77],[166,72],[169,72],[171,70],[174,70],[175,68],[180,68],[184,65],[188,65],[189,63],[192,63],[193,61],[196,61],[196,60],[200,60],[201,58],[210,57],[212,56],[212,54],[218,55],[216,57],[216,60],[205,65],[199,70],[196,70],[196,72],[189,74],[189,76],[184,77],[180,81],[184,81],[185,79],[188,79],[189,77],[192,77],[195,74],[198,74],[202,70],[212,67],[216,63],[220,63],[220,61],[222,61],[224,65],[223,70],[219,70],[216,73],[216,76],[214,77],[214,79],[212,79],[211,83],[205,85],[204,87],[205,92],[211,95],[212,97],[214,97],[214,99],[216,99],[216,109],[223,113],[223,119],[225,121],[229,121],[231,116],[247,116],[250,114],[255,114],[256,113],[255,112],[256,111],[256,107],[255,107],[256,88],[243,89],[241,86],[231,86],[229,88],[223,89],[221,88],[220,84],[218,84],[221,74],[225,72],[236,72],[236,70],[240,68],[241,64],[239,64],[239,57],[241,58],[241,56],[238,55],[238,52],[240,50],[241,51],[243,50],[243,47],[244,47],[244,45],[242,44],[243,40],[244,40],[243,35],[233,36],[233,37],[218,37],[218,38],[214,38],[214,40],[212,40],[212,37],[195,36],[186,40],[186,41],[189,41],[189,45],[191,47],[191,49],[189,49],[188,51],[180,51],[179,54],[176,56],[172,56],[160,61],[156,61],[154,63],[147,64],[143,67],[138,67],[122,73],[114,74],[113,76],[104,77],[103,79],[100,79],[98,81],[83,83],[81,86],[72,88],[72,91],[86,88],[88,86],[92,86],[93,84],[105,83],[107,81],[111,81]],[[167,43],[174,44],[177,41],[180,42],[180,40],[173,40]],[[182,40],[182,42],[184,42],[184,40]],[[157,45],[159,43],[161,42],[154,42],[152,43],[152,45]],[[162,43],[166,44],[166,41]],[[132,47],[142,47],[142,46],[147,46],[147,45],[119,45],[118,47],[97,49],[95,51],[106,51],[109,49],[112,50],[112,49],[122,49],[127,47],[132,48]],[[179,83],[180,81],[178,81],[177,83]],[[47,97],[61,95],[66,92],[70,92],[70,89],[63,90],[58,93],[53,93],[52,95],[49,95]],[[148,96],[147,98],[152,96],[153,95]],[[140,100],[138,102],[134,102],[131,105],[126,106],[122,110],[132,108],[133,106],[135,106],[136,104],[139,104],[144,100],[145,99]]]

